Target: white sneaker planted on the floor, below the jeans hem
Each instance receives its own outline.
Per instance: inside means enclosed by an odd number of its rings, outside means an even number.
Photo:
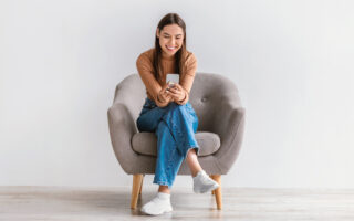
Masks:
[[[140,211],[145,214],[158,215],[173,211],[170,194],[157,192],[156,197],[143,206]]]

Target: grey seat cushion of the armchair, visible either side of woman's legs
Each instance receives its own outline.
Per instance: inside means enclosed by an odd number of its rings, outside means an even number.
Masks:
[[[198,156],[212,155],[220,148],[220,137],[217,134],[208,131],[197,131],[196,139],[199,145]],[[133,150],[140,155],[156,157],[157,155],[157,137],[154,133],[137,133],[132,139]]]

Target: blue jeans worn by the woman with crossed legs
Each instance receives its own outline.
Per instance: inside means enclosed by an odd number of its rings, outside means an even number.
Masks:
[[[165,107],[158,107],[146,97],[136,125],[139,131],[155,133],[157,159],[154,183],[170,188],[188,150],[195,148],[199,154],[195,138],[198,117],[191,104],[187,102],[178,105],[171,102]]]

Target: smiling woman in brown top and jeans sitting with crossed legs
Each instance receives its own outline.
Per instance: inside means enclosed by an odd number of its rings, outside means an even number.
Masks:
[[[159,21],[155,48],[142,53],[136,66],[147,95],[136,124],[139,131],[156,134],[154,183],[159,186],[156,197],[142,208],[142,212],[162,214],[173,211],[170,188],[184,159],[190,168],[196,193],[219,187],[202,170],[197,158],[198,117],[188,101],[197,60],[186,49],[186,25],[178,14],[168,13]],[[174,87],[166,84],[167,73],[179,74],[179,83]]]

